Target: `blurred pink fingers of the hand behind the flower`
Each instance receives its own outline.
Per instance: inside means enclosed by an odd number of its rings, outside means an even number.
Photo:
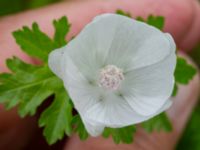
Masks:
[[[68,38],[76,35],[83,26],[94,16],[105,12],[115,12],[116,9],[128,11],[133,17],[149,14],[162,15],[166,18],[164,31],[169,32],[182,50],[190,50],[200,41],[200,6],[196,0],[74,0],[51,5],[37,10],[31,10],[16,15],[0,18],[0,72],[8,71],[5,59],[16,55],[29,63],[33,59],[20,51],[11,32],[23,25],[39,23],[41,29],[50,36],[53,35],[51,21],[67,15],[72,24]],[[184,55],[183,57],[187,57]],[[187,57],[187,59],[189,59]],[[191,62],[191,61],[190,61]],[[131,145],[116,146],[111,139],[89,138],[81,142],[76,135],[66,141],[67,150],[170,150],[176,145],[188,117],[195,106],[199,94],[198,75],[187,86],[180,86],[178,95],[174,98],[173,106],[168,110],[174,130],[172,133],[147,134],[139,129],[135,142]],[[31,139],[36,130],[34,117],[19,119],[16,109],[5,111],[0,105],[0,149],[21,149]],[[19,138],[20,135],[20,138]]]

